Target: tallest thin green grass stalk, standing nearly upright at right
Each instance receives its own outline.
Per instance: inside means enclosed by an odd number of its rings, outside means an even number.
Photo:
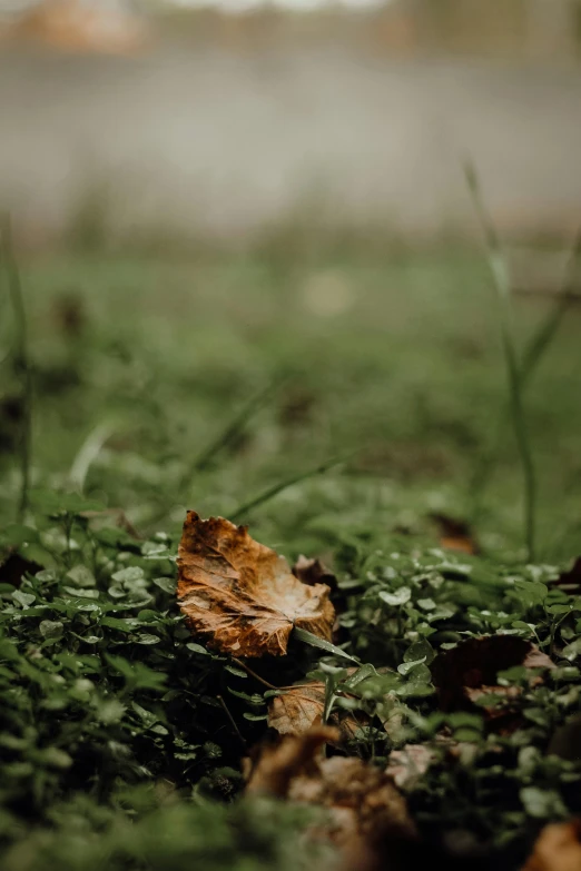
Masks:
[[[484,205],[474,167],[466,164],[464,170],[474,207],[484,230],[488,261],[500,304],[501,338],[509,382],[510,410],[524,477],[524,538],[528,558],[533,562],[535,556],[536,475],[522,404],[521,374],[512,334],[510,274],[500,238]]]

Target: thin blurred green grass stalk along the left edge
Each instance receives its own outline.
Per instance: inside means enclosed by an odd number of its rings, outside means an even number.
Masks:
[[[14,363],[22,378],[23,417],[20,439],[21,485],[17,517],[22,521],[28,508],[30,489],[30,459],[32,443],[32,370],[28,355],[28,321],[20,271],[12,243],[12,222],[6,215],[1,227],[2,259],[8,279],[8,293],[14,313]]]

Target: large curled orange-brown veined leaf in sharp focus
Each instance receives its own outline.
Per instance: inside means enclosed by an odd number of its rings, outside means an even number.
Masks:
[[[325,584],[302,584],[245,526],[188,512],[178,550],[178,601],[196,634],[235,656],[282,656],[294,626],[331,641]]]

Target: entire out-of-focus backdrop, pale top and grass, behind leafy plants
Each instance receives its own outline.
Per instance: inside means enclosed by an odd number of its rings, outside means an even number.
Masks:
[[[520,547],[470,159],[533,360],[541,553],[578,552],[580,62],[578,0],[0,0],[32,484],[144,529],[279,487],[243,514],[307,552],[434,512]],[[7,516],[18,335],[3,294]]]

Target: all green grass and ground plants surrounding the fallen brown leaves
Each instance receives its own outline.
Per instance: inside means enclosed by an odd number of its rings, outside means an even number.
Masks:
[[[561,730],[581,714],[581,590],[555,584],[581,554],[581,309],[523,395],[529,564],[480,254],[79,254],[21,273],[33,386],[21,516],[22,360],[0,294],[2,868],[334,867],[299,837],[318,811],[239,799],[268,700],[177,608],[187,508],[333,565],[356,679],[299,640],[253,667],[275,685],[315,672],[363,717],[347,752],[374,764],[436,733],[460,742],[407,791],[430,843],[515,869],[545,822],[581,812],[580,738],[562,750]],[[553,305],[515,298],[519,353]],[[435,514],[470,522],[480,554],[442,550]],[[500,732],[490,709],[505,700],[442,712],[430,667],[499,633],[557,666],[539,681],[499,670],[516,687],[516,726]]]

